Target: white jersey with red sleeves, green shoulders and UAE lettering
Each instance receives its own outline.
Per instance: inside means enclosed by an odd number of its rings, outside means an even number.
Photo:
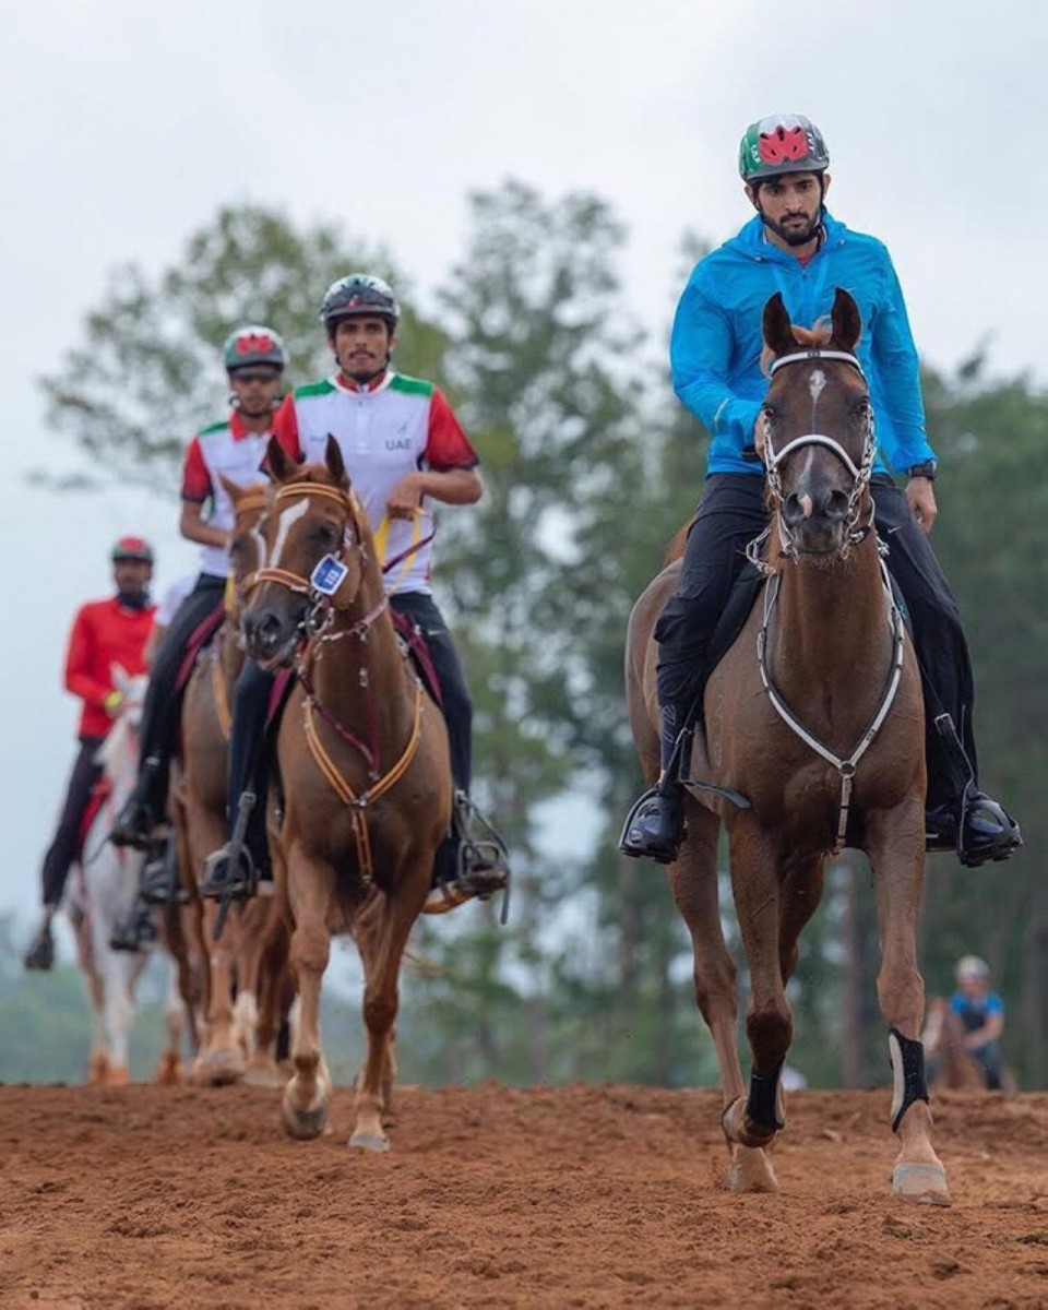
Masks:
[[[365,386],[337,373],[296,388],[280,406],[274,430],[287,453],[307,464],[322,464],[328,436],[334,436],[386,561],[411,552],[434,531],[428,496],[415,520],[386,517],[386,499],[397,482],[418,469],[472,469],[479,462],[440,388],[392,369]],[[390,570],[386,588],[428,593],[431,563],[428,541]]]

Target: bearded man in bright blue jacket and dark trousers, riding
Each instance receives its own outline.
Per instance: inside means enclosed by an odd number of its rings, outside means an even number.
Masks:
[[[962,863],[1006,859],[1022,845],[1007,811],[979,789],[972,667],[960,614],[927,541],[935,519],[935,452],[925,432],[917,351],[884,245],[825,210],[829,155],[800,115],[751,124],[739,172],[756,216],[702,259],[684,288],[669,346],[673,388],[710,434],[706,485],[659,642],[662,774],[626,820],[622,850],[662,863],[683,834],[680,764],[702,713],[710,641],[744,550],[766,525],[755,424],[768,390],[761,369],[764,305],[782,292],[790,320],[828,322],[837,287],[858,303],[857,347],[870,383],[880,455],[871,491],[888,569],[905,600],[926,706],[927,845]],[[884,462],[887,460],[887,462]],[[891,472],[889,472],[891,470]],[[907,476],[905,491],[892,472]]]

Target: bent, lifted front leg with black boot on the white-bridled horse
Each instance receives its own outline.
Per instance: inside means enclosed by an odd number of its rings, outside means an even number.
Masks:
[[[749,965],[745,1031],[753,1068],[745,1100],[734,1100],[722,1123],[730,1141],[768,1146],[786,1125],[781,1076],[793,1040],[793,1014],[782,981],[777,855],[748,814],[732,816],[731,882]]]

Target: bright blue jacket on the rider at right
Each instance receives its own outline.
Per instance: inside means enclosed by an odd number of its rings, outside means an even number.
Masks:
[[[879,472],[904,473],[934,460],[927,444],[917,350],[887,248],[825,216],[825,240],[807,265],[765,240],[755,216],[696,265],[673,320],[673,390],[710,434],[709,473],[764,474],[743,458],[768,390],[761,372],[761,318],[777,291],[799,328],[814,328],[844,287],[862,314],[857,354],[870,384]]]

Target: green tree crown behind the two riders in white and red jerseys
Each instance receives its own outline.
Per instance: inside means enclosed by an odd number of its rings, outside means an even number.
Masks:
[[[335,278],[362,267],[407,296],[385,252],[347,241],[334,224],[297,231],[279,211],[225,207],[170,267],[151,275],[128,263],[113,272],[83,342],[42,379],[48,419],[93,470],[172,491],[189,436],[227,410],[225,337],[245,322],[267,324],[287,342],[291,383],[330,371],[317,309]],[[402,338],[403,367],[432,371],[440,333],[410,305]]]

